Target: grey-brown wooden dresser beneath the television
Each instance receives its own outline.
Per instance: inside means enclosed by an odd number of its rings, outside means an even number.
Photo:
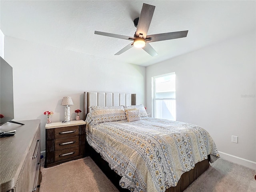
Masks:
[[[0,138],[1,192],[38,192],[40,171],[40,120],[7,123],[0,132],[16,130],[10,137]]]

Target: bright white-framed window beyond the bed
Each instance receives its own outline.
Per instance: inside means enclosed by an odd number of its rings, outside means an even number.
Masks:
[[[153,117],[176,120],[175,73],[152,77]]]

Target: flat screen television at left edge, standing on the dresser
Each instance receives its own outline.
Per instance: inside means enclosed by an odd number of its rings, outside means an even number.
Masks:
[[[14,119],[12,66],[0,57],[0,126]]]

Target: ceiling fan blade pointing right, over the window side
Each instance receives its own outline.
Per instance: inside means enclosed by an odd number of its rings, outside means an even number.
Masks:
[[[188,30],[147,35],[146,42],[156,42],[156,41],[164,41],[164,40],[170,40],[170,39],[178,39],[178,38],[186,37],[187,34],[188,34]],[[150,38],[150,40],[148,40],[148,38]]]

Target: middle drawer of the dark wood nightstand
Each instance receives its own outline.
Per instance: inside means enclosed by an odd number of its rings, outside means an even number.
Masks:
[[[60,138],[55,140],[55,150],[62,150],[79,145],[79,136]]]

